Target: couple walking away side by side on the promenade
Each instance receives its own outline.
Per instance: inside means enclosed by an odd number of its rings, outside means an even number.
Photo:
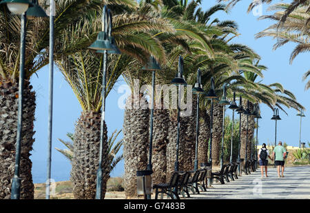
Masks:
[[[273,149],[272,153],[273,158],[269,155],[269,151],[266,148],[266,144],[262,144],[262,148],[258,152],[258,159],[260,163],[260,172],[262,173],[262,177],[264,176],[264,167],[265,167],[265,176],[267,177],[267,165],[268,158],[273,161],[275,159],[274,164],[277,166],[278,177],[284,177],[284,169],[285,169],[285,159],[287,157],[287,150],[285,150],[284,146],[282,146],[282,142],[279,141],[278,145]],[[281,175],[280,175],[281,168]]]

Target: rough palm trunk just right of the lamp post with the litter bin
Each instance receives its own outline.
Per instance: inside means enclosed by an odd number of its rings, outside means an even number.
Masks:
[[[152,149],[152,183],[165,183],[167,172],[167,141],[169,132],[169,111],[154,110],[153,149]]]

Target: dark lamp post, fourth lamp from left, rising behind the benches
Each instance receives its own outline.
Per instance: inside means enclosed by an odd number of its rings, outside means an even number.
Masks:
[[[172,79],[172,84],[178,85],[178,118],[177,118],[177,131],[176,131],[176,162],[174,163],[174,171],[178,171],[178,149],[180,144],[180,90],[181,85],[187,85],[183,77],[183,57],[178,57],[178,73],[176,77]]]

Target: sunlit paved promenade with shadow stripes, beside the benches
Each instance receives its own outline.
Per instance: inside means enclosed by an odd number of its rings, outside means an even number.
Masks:
[[[285,168],[284,176],[279,179],[276,168],[268,168],[268,177],[261,178],[256,170],[224,185],[214,183],[189,199],[310,199],[310,166]]]

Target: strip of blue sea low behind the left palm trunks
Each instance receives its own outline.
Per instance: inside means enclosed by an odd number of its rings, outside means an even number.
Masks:
[[[54,181],[70,180],[71,164],[69,161],[52,161],[51,179]],[[116,168],[111,172],[110,176],[123,176],[124,163],[119,162]],[[45,183],[47,177],[47,162],[32,161],[32,179],[33,183]]]

